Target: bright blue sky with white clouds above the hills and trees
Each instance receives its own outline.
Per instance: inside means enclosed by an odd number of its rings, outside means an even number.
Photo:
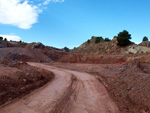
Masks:
[[[0,0],[0,35],[14,40],[73,48],[91,36],[112,39],[123,30],[137,43],[150,38],[149,0],[16,0],[11,9],[5,1],[13,0]],[[22,9],[12,11],[18,5]]]

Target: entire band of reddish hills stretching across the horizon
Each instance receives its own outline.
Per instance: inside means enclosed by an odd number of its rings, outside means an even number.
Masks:
[[[42,43],[25,43],[15,41],[0,41],[1,59],[21,60],[34,62],[70,62],[70,63],[123,63],[140,59],[149,62],[150,42],[145,41],[139,45],[131,43],[129,46],[117,46],[117,37],[112,40],[101,39],[96,42],[97,37],[84,42],[79,47],[65,52],[45,46]],[[146,54],[146,56],[144,55]]]

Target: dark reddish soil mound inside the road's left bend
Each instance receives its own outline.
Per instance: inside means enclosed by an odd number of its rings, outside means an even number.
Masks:
[[[0,105],[7,104],[43,86],[54,74],[31,67],[26,63],[3,62],[0,64]]]

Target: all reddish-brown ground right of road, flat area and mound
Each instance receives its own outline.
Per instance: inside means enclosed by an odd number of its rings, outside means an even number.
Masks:
[[[135,60],[122,64],[47,64],[87,72],[103,83],[121,113],[150,113],[150,65]]]

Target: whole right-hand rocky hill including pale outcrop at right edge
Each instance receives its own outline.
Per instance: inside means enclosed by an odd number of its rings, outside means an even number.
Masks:
[[[101,40],[95,43],[95,38],[73,49],[69,54],[63,55],[59,62],[70,63],[97,63],[112,64],[123,63],[139,59],[149,63],[150,42],[142,42],[137,45],[132,43],[126,47],[117,46],[117,37],[110,42]]]

